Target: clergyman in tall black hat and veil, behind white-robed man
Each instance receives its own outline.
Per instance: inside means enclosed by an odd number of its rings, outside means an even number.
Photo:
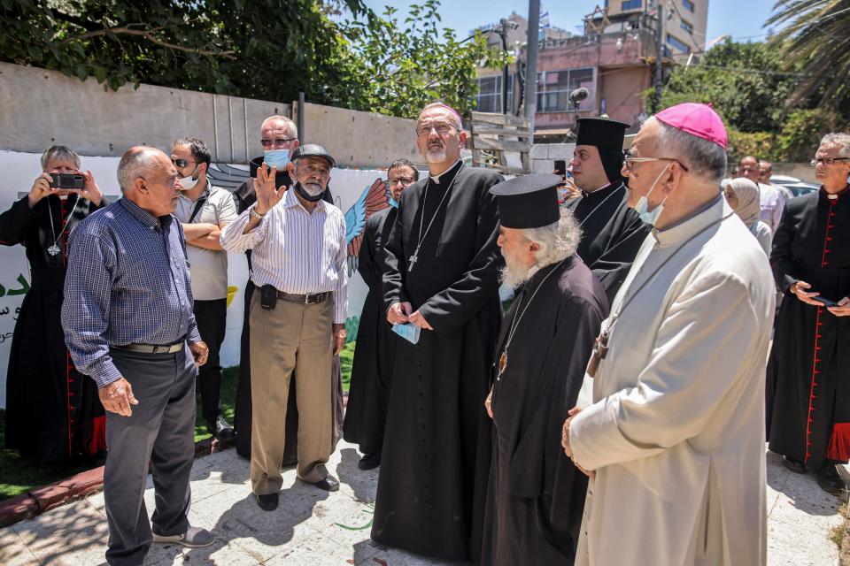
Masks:
[[[626,205],[620,173],[628,124],[604,118],[578,119],[576,149],[569,165],[582,196],[567,203],[582,227],[578,255],[602,282],[608,302],[629,273],[650,227]]]

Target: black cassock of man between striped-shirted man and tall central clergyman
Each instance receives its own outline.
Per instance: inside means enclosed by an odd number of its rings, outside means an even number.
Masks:
[[[357,348],[352,363],[352,385],[345,409],[344,439],[358,444],[363,454],[373,454],[383,446],[383,430],[390,400],[390,378],[396,340],[401,340],[387,322],[383,304],[383,247],[396,222],[393,207],[379,210],[366,221],[360,245],[357,271],[369,292],[357,329]]]

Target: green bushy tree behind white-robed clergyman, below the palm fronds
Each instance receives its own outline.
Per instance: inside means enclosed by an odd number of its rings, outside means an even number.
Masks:
[[[674,69],[661,108],[712,103],[727,127],[730,163],[746,155],[804,161],[813,155],[820,136],[846,126],[848,120],[818,108],[815,97],[789,105],[805,80],[801,71],[800,64],[784,60],[775,43],[727,40],[708,50],[699,64]]]

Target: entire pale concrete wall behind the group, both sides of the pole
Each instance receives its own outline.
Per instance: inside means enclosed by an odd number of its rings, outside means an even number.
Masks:
[[[63,144],[83,156],[120,157],[134,145],[169,149],[191,136],[207,143],[214,162],[244,164],[262,154],[263,119],[291,116],[292,108],[151,85],[112,92],[94,79],[0,63],[0,149],[9,151]],[[325,146],[339,165],[386,167],[398,157],[421,163],[412,119],[310,103],[305,112],[305,141]]]

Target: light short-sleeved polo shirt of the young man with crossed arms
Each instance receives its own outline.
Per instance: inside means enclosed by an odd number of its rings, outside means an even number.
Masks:
[[[209,181],[207,181],[209,182]],[[197,206],[185,193],[180,195],[174,216],[182,223],[192,220],[192,224],[205,222],[221,226],[233,222],[236,218],[236,203],[233,195],[224,188],[209,186],[209,192],[198,197],[205,198],[195,218],[191,218]],[[219,249],[205,249],[186,246],[189,255],[189,271],[192,274],[192,296],[196,301],[214,301],[228,296],[228,252]]]

